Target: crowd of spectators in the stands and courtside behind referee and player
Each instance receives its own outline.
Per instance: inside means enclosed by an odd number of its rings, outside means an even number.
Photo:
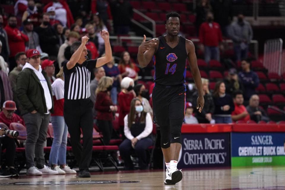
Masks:
[[[213,91],[209,89],[209,80],[202,78],[205,106],[201,113],[196,109],[198,93],[193,86],[194,92],[190,93],[188,85],[187,97],[192,98],[186,102],[185,123],[269,122],[255,90],[259,77],[251,70],[251,59],[246,59],[253,37],[251,26],[243,14],[230,23],[232,15],[227,8],[230,4],[221,3],[201,0],[197,5],[195,26],[199,48],[207,64],[213,59],[220,62],[220,51],[224,49],[222,39],[229,37],[234,43],[234,59],[241,62],[242,70],[238,73],[236,68],[230,68],[225,78],[215,81]],[[91,14],[86,12],[86,7]],[[46,5],[34,0],[18,0],[14,13],[0,15],[0,105],[3,106],[0,123],[7,127],[11,123],[26,126],[27,175],[75,173],[66,165],[68,126],[63,115],[62,64],[72,56],[71,45],[85,35],[89,37],[88,57],[104,56],[100,31],[128,34],[132,6],[124,0],[110,4],[105,0],[82,1],[76,6],[64,0],[53,0]],[[147,168],[145,150],[153,144],[151,92],[154,83],[140,80],[139,73],[140,68],[128,51],[121,52],[118,63],[113,58],[91,73],[94,125],[103,135],[104,145],[109,145],[114,137],[123,140],[119,150],[126,169],[134,168],[130,157],[132,148],[139,157],[140,168]],[[114,120],[118,120],[117,131]],[[49,157],[51,168],[46,165],[43,152],[50,122],[54,130]],[[3,133],[1,129],[0,136]],[[0,145],[6,148],[6,157],[10,158],[4,164],[7,168],[1,169],[0,164],[1,176],[18,175],[13,167],[15,143],[12,140],[0,138]],[[9,144],[13,145],[7,146]]]

